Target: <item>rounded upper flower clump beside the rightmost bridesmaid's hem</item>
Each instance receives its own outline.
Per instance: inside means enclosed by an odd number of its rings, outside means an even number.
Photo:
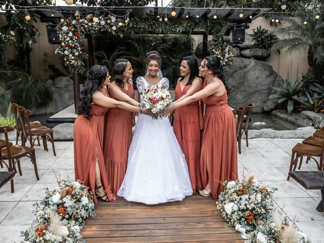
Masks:
[[[240,224],[253,230],[258,219],[267,221],[271,216],[274,189],[263,187],[253,176],[248,180],[225,181],[224,188],[219,195],[217,210],[230,225]]]

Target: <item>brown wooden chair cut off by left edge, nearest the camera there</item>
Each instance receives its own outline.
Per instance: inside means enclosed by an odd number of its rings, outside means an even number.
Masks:
[[[2,148],[1,151],[1,160],[8,169],[9,172],[14,172],[16,168],[16,164],[18,164],[19,174],[22,175],[21,167],[20,167],[20,159],[22,157],[29,157],[34,165],[35,175],[37,180],[39,180],[38,172],[37,172],[37,164],[35,157],[35,149],[21,146],[21,145],[9,145],[8,132],[14,131],[13,128],[10,127],[0,127],[0,134],[4,133],[6,138],[7,146]],[[8,160],[8,164],[5,160]],[[14,180],[11,180],[11,192],[14,192]]]

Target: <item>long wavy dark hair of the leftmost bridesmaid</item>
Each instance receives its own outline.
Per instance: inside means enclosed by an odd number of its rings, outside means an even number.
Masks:
[[[91,103],[92,94],[103,85],[108,74],[106,66],[94,65],[87,72],[84,90],[81,92],[80,105],[77,114],[83,114],[87,119],[92,117]]]

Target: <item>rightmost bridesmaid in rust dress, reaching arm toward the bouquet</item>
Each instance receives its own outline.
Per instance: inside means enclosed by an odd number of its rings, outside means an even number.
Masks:
[[[203,141],[200,151],[202,196],[218,198],[225,180],[237,179],[236,126],[233,112],[227,105],[229,89],[218,57],[206,57],[199,67],[205,78],[203,89],[172,104],[168,112],[201,99],[206,104]]]

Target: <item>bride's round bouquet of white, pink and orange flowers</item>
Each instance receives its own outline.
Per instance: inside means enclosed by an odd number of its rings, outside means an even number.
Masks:
[[[156,118],[153,117],[155,119],[163,117],[160,112],[166,110],[172,104],[169,91],[164,88],[159,88],[157,85],[144,89],[141,93],[141,100],[145,108],[149,108],[152,113],[158,114]]]

